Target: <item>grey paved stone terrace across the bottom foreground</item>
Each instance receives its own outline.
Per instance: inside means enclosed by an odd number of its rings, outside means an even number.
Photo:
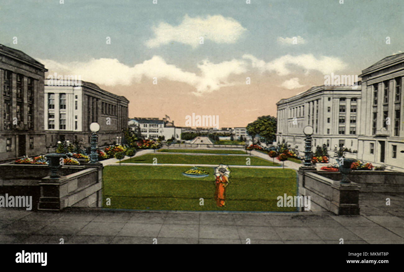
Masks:
[[[404,243],[404,218],[328,212],[139,212],[0,209],[0,243]]]

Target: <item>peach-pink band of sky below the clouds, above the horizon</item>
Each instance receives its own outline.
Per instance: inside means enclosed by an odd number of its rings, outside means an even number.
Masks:
[[[324,76],[320,73],[313,72],[310,75],[300,77],[299,83],[304,86],[297,89],[280,87],[285,79],[274,73],[240,75],[238,76],[240,81],[249,76],[251,84],[221,87],[219,90],[205,92],[201,96],[196,96],[193,93],[195,88],[186,83],[166,79],[159,79],[156,85],[152,84],[151,79],[142,79],[140,83],[128,86],[99,85],[99,87],[125,96],[130,101],[129,118],[164,118],[168,115],[176,126],[185,127],[185,116],[195,113],[219,115],[219,128],[246,127],[259,116],[276,116],[276,102],[280,99],[295,96],[312,86],[324,84]]]

